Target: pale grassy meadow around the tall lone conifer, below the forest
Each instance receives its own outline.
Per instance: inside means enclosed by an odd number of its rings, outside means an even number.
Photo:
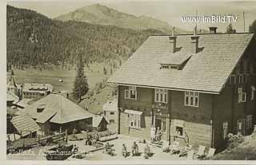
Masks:
[[[107,74],[103,73],[104,67],[107,70]],[[49,83],[54,86],[55,91],[69,90],[70,92],[73,90],[76,73],[77,71],[75,69],[14,69],[14,77],[19,84],[33,82]],[[102,82],[104,79],[110,77],[110,65],[106,65],[105,63],[92,63],[89,65],[89,67],[85,67],[85,74],[89,88],[92,90],[95,88],[96,83]],[[62,82],[59,82],[59,79],[62,79]],[[108,84],[106,88],[103,88],[98,94],[94,93],[94,96],[88,96],[88,92],[86,96],[84,96],[85,99],[82,100],[78,105],[82,108],[88,108],[89,111],[93,112],[94,114],[102,112],[102,105],[105,104],[107,100],[114,99],[112,94],[113,90],[113,85]]]

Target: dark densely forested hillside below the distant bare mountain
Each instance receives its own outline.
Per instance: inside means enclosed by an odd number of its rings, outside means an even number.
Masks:
[[[14,68],[123,60],[158,30],[133,30],[86,22],[52,20],[33,10],[7,6],[7,63]]]

